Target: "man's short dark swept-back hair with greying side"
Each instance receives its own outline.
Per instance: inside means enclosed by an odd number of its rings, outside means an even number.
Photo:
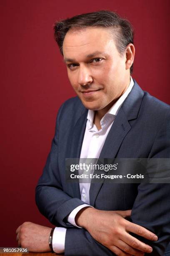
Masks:
[[[62,52],[62,45],[67,31],[75,27],[105,27],[113,28],[112,33],[115,38],[115,44],[120,55],[125,52],[128,44],[133,44],[133,27],[126,19],[122,19],[120,15],[110,10],[100,10],[93,13],[84,13],[76,15],[66,20],[57,21],[54,24],[54,36],[60,52]],[[133,64],[130,67],[130,74],[133,72]]]

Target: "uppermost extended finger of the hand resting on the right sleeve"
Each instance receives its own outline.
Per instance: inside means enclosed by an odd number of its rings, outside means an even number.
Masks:
[[[140,225],[131,223],[130,221],[128,221],[125,228],[128,232],[132,232],[134,234],[137,234],[138,236],[143,236],[151,241],[158,240],[158,236],[156,236],[154,233],[150,232],[148,229],[143,228]]]

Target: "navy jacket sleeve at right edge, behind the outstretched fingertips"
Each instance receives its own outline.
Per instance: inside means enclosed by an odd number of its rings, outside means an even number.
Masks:
[[[170,118],[165,118],[148,158],[155,158],[158,161],[163,158],[170,159]],[[170,166],[168,169],[170,174]],[[149,169],[147,171],[149,172]],[[170,183],[141,183],[138,186],[138,196],[133,205],[131,220],[158,236],[156,242],[136,236],[153,248],[152,253],[145,255],[164,255],[170,243]]]

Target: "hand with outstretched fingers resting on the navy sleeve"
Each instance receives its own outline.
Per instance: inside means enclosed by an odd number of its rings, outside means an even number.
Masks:
[[[152,247],[131,236],[129,232],[151,241],[158,237],[149,230],[126,220],[131,210],[103,211],[92,207],[83,208],[77,213],[75,222],[85,228],[99,243],[120,256],[143,256],[152,252]]]

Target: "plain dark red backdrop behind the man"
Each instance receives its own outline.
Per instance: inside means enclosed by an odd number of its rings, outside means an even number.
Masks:
[[[50,225],[35,205],[57,110],[74,96],[52,24],[83,12],[117,11],[135,28],[133,77],[170,104],[169,0],[0,0],[0,246],[17,246],[24,221]]]

